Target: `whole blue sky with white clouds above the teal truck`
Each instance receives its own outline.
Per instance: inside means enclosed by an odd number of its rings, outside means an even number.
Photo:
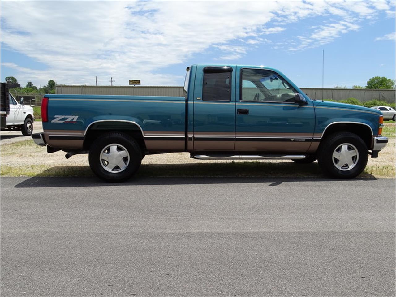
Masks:
[[[21,16],[23,17],[16,17]],[[299,87],[395,79],[395,1],[1,1],[1,80],[182,86],[194,63],[265,65]]]

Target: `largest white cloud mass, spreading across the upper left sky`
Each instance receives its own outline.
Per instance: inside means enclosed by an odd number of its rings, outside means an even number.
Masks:
[[[28,69],[18,61],[3,65],[18,70],[20,82],[36,85],[49,79],[59,84],[94,84],[95,76],[99,84],[109,84],[112,76],[116,85],[125,85],[129,79],[141,79],[145,85],[175,85],[183,73],[159,74],[159,69],[185,63],[211,48],[221,51],[213,59],[240,59],[258,44],[271,43],[260,36],[282,36],[287,24],[308,17],[341,20],[309,29],[294,49],[328,43],[358,30],[360,19],[391,9],[390,3],[2,1],[2,45],[47,69]]]

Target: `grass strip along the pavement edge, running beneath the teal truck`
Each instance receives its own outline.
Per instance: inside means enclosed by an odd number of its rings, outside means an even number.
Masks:
[[[1,176],[93,176],[89,166],[1,166]],[[202,164],[144,164],[136,177],[324,177],[317,163],[230,162]],[[361,178],[394,178],[395,166],[368,166]]]

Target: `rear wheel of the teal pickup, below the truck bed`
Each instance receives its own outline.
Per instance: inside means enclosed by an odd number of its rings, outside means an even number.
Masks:
[[[111,153],[113,156],[110,156]],[[124,156],[125,154],[128,156]],[[105,158],[112,162],[106,161]],[[111,132],[95,139],[89,149],[88,160],[97,177],[109,182],[119,182],[129,179],[136,173],[142,161],[142,154],[139,145],[132,137],[124,133]],[[118,161],[123,168],[120,166],[112,168]]]

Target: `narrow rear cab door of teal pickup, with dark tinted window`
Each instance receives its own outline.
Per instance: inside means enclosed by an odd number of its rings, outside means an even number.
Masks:
[[[194,85],[194,151],[235,144],[235,66],[198,66]]]

